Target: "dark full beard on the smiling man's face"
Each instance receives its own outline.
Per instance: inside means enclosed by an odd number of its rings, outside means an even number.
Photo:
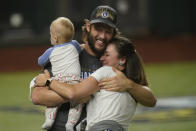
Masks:
[[[106,49],[106,45],[105,45],[105,47],[104,47],[102,50],[96,49],[96,48],[95,48],[95,42],[96,42],[96,40],[93,38],[93,36],[90,34],[90,32],[87,32],[87,40],[88,40],[88,44],[89,44],[91,50],[92,50],[98,57],[102,56],[103,53],[104,53],[104,51],[105,51],[105,49]],[[106,40],[104,40],[103,42],[104,42],[104,44],[107,43]]]

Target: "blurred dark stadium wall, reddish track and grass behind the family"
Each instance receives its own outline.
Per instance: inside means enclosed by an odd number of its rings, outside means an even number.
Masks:
[[[28,86],[41,69],[38,56],[50,46],[49,25],[70,18],[81,42],[83,20],[103,4],[118,11],[118,28],[142,56],[158,98],[196,96],[195,0],[6,0],[0,5],[0,130],[41,130],[43,108],[28,100]],[[151,109],[144,112],[130,130],[196,129],[196,108],[158,108],[154,117]]]

